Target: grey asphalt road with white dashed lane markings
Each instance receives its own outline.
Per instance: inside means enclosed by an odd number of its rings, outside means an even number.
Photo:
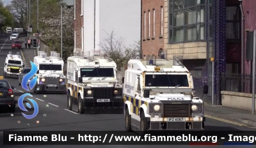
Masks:
[[[0,35],[0,73],[3,73],[4,59],[9,51],[13,54],[21,51],[19,49],[11,49],[11,41],[8,35]],[[33,59],[33,50],[23,49],[26,63]],[[23,58],[23,56],[22,56]],[[29,64],[28,64],[29,65]],[[2,71],[2,72],[1,72]],[[1,74],[0,74],[1,75]],[[24,91],[18,85],[17,79],[7,78],[11,85],[15,86],[15,97],[18,100],[19,96]],[[32,93],[33,99],[38,103],[39,113],[33,119],[23,117],[18,105],[16,112],[11,116],[11,113],[0,112],[0,135],[3,131],[124,131],[124,115],[122,114],[77,114],[71,112],[67,108],[67,94],[35,94]],[[45,96],[46,95],[46,96]],[[47,107],[47,104],[49,107]],[[33,105],[32,105],[33,106]],[[25,105],[26,107],[26,105]],[[26,114],[33,114],[33,108],[29,109]],[[47,114],[44,117],[43,114]],[[17,121],[20,121],[18,123]],[[39,123],[36,123],[39,121]],[[240,124],[223,122],[218,119],[207,117],[205,129],[211,131],[255,131],[255,128],[248,128]],[[134,133],[136,135],[136,133]],[[1,137],[1,136],[0,136]],[[0,147],[84,147],[84,145],[3,145],[3,139],[0,139]],[[86,145],[86,147],[95,148],[114,148],[114,147],[189,147],[189,145]],[[202,147],[202,146],[194,146]],[[223,147],[223,146],[218,146]],[[242,146],[240,146],[242,147]],[[246,146],[250,147],[250,146]]]

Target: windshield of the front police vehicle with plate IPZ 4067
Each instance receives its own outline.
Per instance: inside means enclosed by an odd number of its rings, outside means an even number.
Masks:
[[[146,87],[189,87],[188,75],[145,75]]]

